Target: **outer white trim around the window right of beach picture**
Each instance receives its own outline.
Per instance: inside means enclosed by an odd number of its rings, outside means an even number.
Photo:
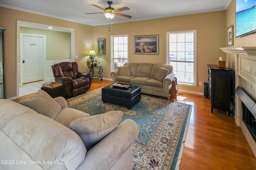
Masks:
[[[195,83],[194,84],[187,84],[187,83],[182,83],[178,82],[178,84],[182,84],[184,86],[192,86],[196,87],[197,86],[197,31],[196,30],[188,30],[188,31],[170,31],[166,32],[166,64],[169,64],[169,33],[186,33],[186,32],[194,32],[194,76],[195,76]],[[178,77],[177,77],[178,79]]]

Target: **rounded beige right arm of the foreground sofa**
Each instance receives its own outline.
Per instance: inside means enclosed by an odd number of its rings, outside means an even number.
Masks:
[[[126,119],[86,153],[84,161],[77,169],[111,169],[127,150],[132,153],[131,146],[138,134],[137,123],[131,119]],[[130,159],[127,159],[126,162],[132,167],[132,154],[130,154]],[[125,164],[125,162],[123,163]]]

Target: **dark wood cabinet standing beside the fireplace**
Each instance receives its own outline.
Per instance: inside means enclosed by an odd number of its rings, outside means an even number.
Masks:
[[[232,70],[208,64],[208,97],[213,109],[227,111],[230,115]]]

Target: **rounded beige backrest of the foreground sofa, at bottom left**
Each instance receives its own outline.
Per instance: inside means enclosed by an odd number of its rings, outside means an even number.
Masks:
[[[24,158],[29,155],[29,160],[38,161],[41,169],[44,170],[72,170],[83,162],[86,148],[74,131],[32,109],[30,111],[28,107],[26,109],[26,106],[16,102],[2,103],[0,101],[0,106],[0,117],[1,119],[4,117],[0,127],[2,132],[6,134],[6,139],[0,138],[0,141],[1,143],[5,143],[5,140],[12,142],[6,145],[10,146],[9,151],[5,152],[6,155],[16,151],[15,156],[8,155],[7,158],[20,158],[17,160],[24,161]],[[10,107],[13,109],[7,109]],[[4,112],[2,108],[6,108]],[[16,112],[19,114],[17,115]],[[12,117],[12,119],[5,119],[6,116],[7,118]],[[26,161],[28,163],[28,160]],[[52,163],[45,163],[45,161]],[[59,162],[59,164],[53,162]],[[29,164],[27,165],[30,167]],[[14,167],[9,166],[9,169],[34,169]]]

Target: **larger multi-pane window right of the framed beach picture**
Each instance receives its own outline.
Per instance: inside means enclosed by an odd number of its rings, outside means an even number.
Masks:
[[[167,32],[168,64],[180,84],[196,86],[196,30]]]

